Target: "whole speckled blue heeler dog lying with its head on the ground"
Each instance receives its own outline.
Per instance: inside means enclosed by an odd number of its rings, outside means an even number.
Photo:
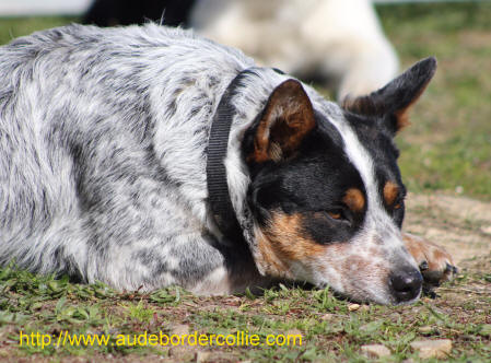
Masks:
[[[119,290],[288,280],[412,302],[422,276],[455,270],[400,232],[391,140],[435,68],[338,106],[155,24],[15,39],[0,48],[0,264]]]

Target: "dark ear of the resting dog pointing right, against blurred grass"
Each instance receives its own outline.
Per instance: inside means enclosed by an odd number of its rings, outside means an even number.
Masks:
[[[426,89],[436,70],[436,59],[420,60],[384,87],[367,96],[347,97],[342,107],[351,113],[383,119],[393,134],[409,124],[408,110]]]

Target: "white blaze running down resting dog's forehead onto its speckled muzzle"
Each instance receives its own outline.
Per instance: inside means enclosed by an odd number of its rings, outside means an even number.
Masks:
[[[330,251],[325,258],[329,268],[324,268],[320,281],[327,281],[335,290],[360,300],[375,301],[382,304],[391,302],[393,296],[387,285],[387,277],[397,266],[393,264],[417,265],[402,248],[400,231],[384,208],[379,192],[375,163],[372,154],[360,142],[354,130],[344,119],[340,109],[327,113],[328,121],[340,133],[344,142],[344,153],[360,173],[366,191],[367,210],[364,225],[354,236],[341,256],[332,256]],[[362,270],[339,270],[346,261],[362,259],[367,262]],[[332,268],[334,267],[334,268]],[[358,267],[356,267],[358,268]]]

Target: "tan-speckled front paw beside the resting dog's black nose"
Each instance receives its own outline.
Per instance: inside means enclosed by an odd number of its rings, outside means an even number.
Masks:
[[[457,267],[445,248],[409,233],[402,233],[402,239],[416,259],[428,288],[452,280],[457,273]]]

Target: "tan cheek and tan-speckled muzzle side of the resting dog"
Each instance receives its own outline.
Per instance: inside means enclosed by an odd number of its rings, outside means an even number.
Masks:
[[[260,272],[291,280],[312,278],[308,281],[314,283],[326,281],[352,298],[388,303],[391,267],[383,246],[361,241],[318,244],[303,230],[306,218],[274,211],[270,223],[256,230],[255,261]]]

